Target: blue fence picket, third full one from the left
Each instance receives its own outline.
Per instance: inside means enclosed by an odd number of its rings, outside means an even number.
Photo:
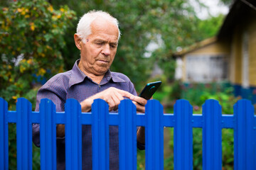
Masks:
[[[80,115],[80,103],[74,99],[68,99],[65,103],[66,169],[82,169],[82,125]]]

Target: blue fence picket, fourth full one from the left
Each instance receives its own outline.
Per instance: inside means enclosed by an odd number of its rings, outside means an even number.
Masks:
[[[101,99],[92,103],[92,169],[109,169],[109,106]]]

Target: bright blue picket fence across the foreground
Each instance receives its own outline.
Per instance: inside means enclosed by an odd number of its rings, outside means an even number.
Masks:
[[[119,126],[119,169],[137,169],[137,126],[146,127],[146,169],[164,169],[164,127],[174,128],[174,169],[193,169],[193,128],[203,129],[203,169],[222,169],[222,129],[234,130],[234,169],[256,169],[256,118],[250,101],[240,100],[234,115],[222,115],[218,101],[207,100],[202,115],[193,115],[186,100],[178,100],[174,114],[164,114],[159,101],[136,113],[132,101],[124,100],[119,113],[109,113],[101,99],[92,113],[81,113],[80,103],[68,99],[65,112],[43,99],[39,112],[18,98],[16,111],[0,98],[0,169],[9,169],[8,124],[16,123],[17,169],[32,169],[32,123],[41,124],[41,169],[56,169],[56,124],[65,124],[66,169],[82,169],[81,125],[92,125],[92,167],[109,167],[109,125]]]

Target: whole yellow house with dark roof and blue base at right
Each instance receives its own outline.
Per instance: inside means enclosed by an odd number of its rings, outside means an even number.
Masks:
[[[184,83],[228,81],[256,103],[256,1],[236,0],[215,38],[177,52]]]

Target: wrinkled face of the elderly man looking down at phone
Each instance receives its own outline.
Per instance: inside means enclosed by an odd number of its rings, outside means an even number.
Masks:
[[[104,75],[117,52],[118,28],[110,21],[97,18],[91,24],[92,34],[80,42],[80,69],[85,74]]]

